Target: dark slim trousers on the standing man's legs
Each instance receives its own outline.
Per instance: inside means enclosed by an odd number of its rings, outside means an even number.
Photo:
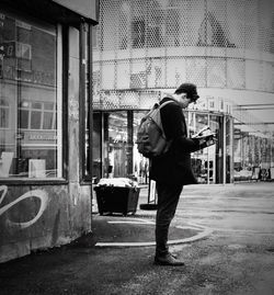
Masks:
[[[156,215],[156,256],[165,256],[169,252],[168,236],[183,190],[182,184],[156,183],[158,205]]]

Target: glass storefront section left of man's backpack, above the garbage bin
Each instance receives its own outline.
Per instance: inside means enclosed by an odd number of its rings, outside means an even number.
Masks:
[[[148,160],[134,145],[144,112],[93,114],[93,178],[134,178],[148,182]]]

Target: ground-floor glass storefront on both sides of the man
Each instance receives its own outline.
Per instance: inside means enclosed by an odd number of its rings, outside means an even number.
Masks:
[[[149,160],[138,152],[134,144],[139,122],[146,113],[147,111],[105,111],[93,114],[93,178],[133,177],[140,184],[148,183]],[[195,111],[186,111],[185,117],[190,136],[209,126],[218,139],[216,145],[192,154],[192,166],[198,183],[229,183],[231,140],[226,140],[225,152],[224,132],[226,131],[227,138],[232,137],[231,117]],[[226,129],[224,120],[228,126]],[[227,159],[226,167],[224,155]]]

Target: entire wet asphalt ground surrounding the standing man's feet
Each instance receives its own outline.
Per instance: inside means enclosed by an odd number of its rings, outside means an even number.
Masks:
[[[155,213],[94,212],[92,234],[0,264],[1,295],[274,294],[274,183],[185,186],[170,231],[185,266],[153,265]]]

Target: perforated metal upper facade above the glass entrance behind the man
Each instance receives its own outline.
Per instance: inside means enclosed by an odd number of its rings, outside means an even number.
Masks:
[[[96,31],[94,95],[183,81],[274,92],[272,0],[101,0]]]

